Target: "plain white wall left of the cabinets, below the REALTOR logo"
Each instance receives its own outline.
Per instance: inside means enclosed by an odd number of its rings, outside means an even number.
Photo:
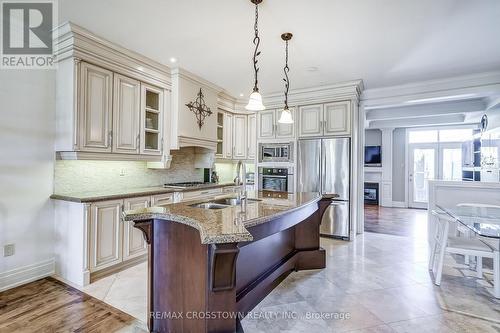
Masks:
[[[0,290],[53,269],[55,75],[0,70]],[[23,270],[23,267],[31,270]]]

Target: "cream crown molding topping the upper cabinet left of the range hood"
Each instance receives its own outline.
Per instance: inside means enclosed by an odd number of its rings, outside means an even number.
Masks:
[[[170,89],[170,67],[99,37],[71,22],[54,30],[56,63],[69,58],[104,66],[117,73]]]

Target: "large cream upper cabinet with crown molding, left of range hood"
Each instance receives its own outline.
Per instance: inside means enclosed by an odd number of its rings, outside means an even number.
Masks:
[[[57,157],[169,161],[170,69],[72,23],[56,35]]]

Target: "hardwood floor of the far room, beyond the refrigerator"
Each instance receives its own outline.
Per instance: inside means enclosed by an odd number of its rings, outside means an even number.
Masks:
[[[427,231],[427,210],[365,205],[365,231],[418,236]]]

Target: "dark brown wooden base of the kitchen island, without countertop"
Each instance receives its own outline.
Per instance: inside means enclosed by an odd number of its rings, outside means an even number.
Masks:
[[[149,244],[149,330],[242,331],[239,320],[288,274],[325,267],[324,207],[315,201],[247,227],[253,240],[238,243],[201,244],[189,225],[136,220]]]

